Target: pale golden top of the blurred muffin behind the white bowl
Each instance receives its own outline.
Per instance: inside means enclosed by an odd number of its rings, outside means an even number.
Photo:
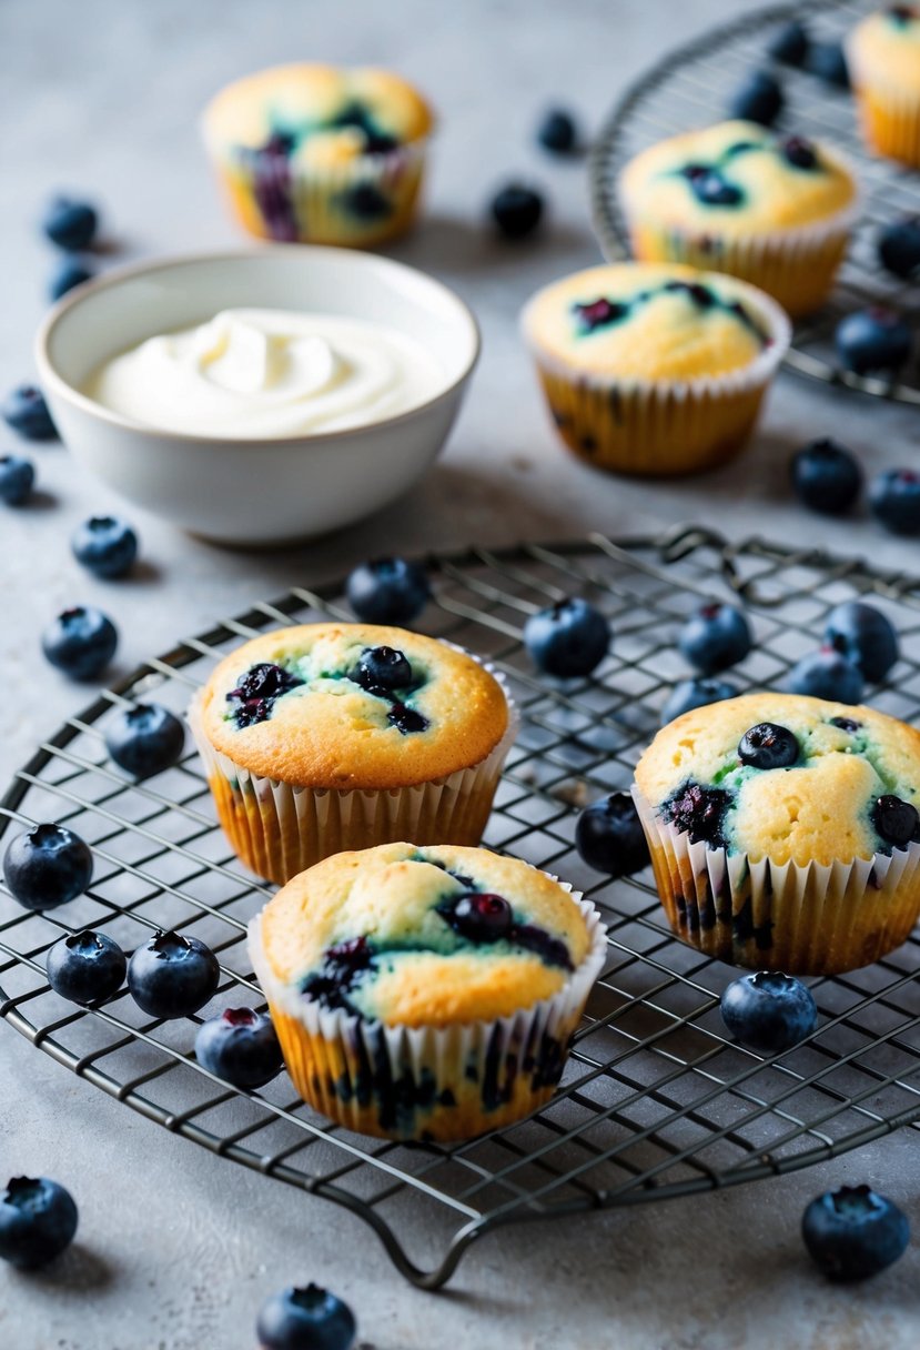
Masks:
[[[217,151],[268,150],[304,167],[332,167],[425,136],[432,112],[386,70],[274,66],[227,85],[204,113]]]

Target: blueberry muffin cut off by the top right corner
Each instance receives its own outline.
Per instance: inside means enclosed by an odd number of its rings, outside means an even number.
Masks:
[[[920,8],[889,5],[850,34],[847,63],[871,150],[920,167]]]

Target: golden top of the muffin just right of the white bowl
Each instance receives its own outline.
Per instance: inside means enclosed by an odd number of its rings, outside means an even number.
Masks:
[[[588,267],[537,292],[523,331],[541,354],[598,375],[692,379],[750,366],[776,306],[722,273],[679,263]]]

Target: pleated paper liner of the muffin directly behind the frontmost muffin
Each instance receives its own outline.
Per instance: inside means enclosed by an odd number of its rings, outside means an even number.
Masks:
[[[505,734],[478,764],[409,787],[316,788],[254,774],[210,744],[202,694],[196,694],[189,728],[224,833],[240,860],[258,876],[283,884],[332,853],[374,844],[479,844],[519,716],[502,672],[464,655],[500,684],[509,710]]]

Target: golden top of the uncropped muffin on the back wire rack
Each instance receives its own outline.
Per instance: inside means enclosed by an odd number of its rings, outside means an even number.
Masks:
[[[638,219],[728,238],[801,228],[855,197],[853,176],[828,146],[754,122],[660,140],[630,161],[621,190]]]

